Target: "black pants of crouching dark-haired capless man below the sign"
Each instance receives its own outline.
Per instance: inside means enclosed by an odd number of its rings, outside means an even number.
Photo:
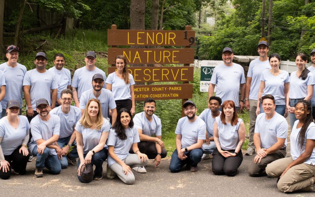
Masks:
[[[157,156],[157,148],[155,144],[156,144],[155,142],[146,142],[146,141],[138,142],[138,148],[139,148],[140,153],[146,154],[148,156],[148,159],[155,159],[155,157]],[[132,147],[130,148],[129,153],[134,154]],[[167,155],[167,152],[165,148],[163,148],[161,151],[161,158],[165,158],[166,155]]]

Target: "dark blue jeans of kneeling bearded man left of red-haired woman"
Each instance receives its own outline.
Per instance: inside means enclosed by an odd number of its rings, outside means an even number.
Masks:
[[[192,165],[193,167],[197,166],[198,163],[201,161],[203,150],[202,148],[193,149],[191,151],[184,152],[184,154],[187,155],[187,158],[184,160],[180,160],[178,158],[177,149],[175,149],[174,153],[172,154],[171,162],[169,164],[169,170],[171,172],[180,171],[180,169],[186,164]]]

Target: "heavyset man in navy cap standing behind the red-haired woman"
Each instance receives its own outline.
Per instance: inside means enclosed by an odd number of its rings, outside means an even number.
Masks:
[[[222,103],[226,100],[232,100],[235,103],[236,110],[238,106],[242,110],[244,108],[245,98],[245,74],[244,68],[236,63],[233,63],[233,51],[226,47],[222,51],[223,64],[218,65],[213,69],[211,81],[209,83],[208,100],[213,96],[216,87],[215,96],[222,99]],[[238,101],[239,89],[241,87],[241,102]],[[210,105],[208,103],[208,108]],[[221,107],[219,109],[221,111]]]

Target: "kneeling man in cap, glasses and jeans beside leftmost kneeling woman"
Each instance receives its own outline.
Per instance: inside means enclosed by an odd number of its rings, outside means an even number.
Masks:
[[[44,98],[36,101],[36,111],[38,115],[31,120],[32,138],[27,147],[37,158],[35,177],[40,178],[43,177],[44,167],[53,174],[60,173],[61,164],[58,159],[62,159],[62,151],[55,145],[60,133],[59,116],[49,114],[49,102]]]

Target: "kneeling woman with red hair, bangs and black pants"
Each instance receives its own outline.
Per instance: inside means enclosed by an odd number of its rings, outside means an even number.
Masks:
[[[222,109],[224,113],[215,118],[213,126],[216,149],[212,154],[212,171],[216,175],[226,174],[232,177],[243,161],[245,125],[238,118],[233,101],[224,101]]]

